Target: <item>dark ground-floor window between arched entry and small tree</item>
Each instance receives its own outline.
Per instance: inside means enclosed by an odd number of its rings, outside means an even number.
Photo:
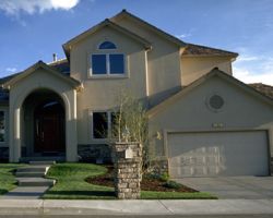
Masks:
[[[115,135],[112,126],[116,122],[116,112],[93,112],[93,138],[108,138]]]

